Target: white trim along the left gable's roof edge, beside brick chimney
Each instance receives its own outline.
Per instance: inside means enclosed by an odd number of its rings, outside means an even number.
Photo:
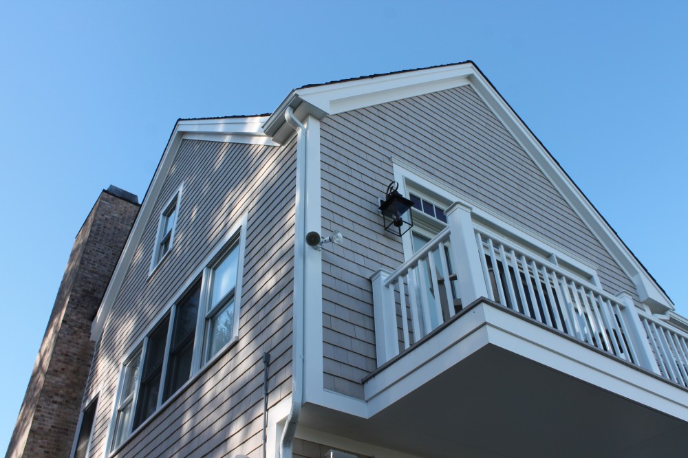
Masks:
[[[162,184],[164,184],[164,179],[169,173],[182,140],[186,138],[186,135],[205,135],[206,138],[204,138],[204,140],[211,140],[211,138],[214,138],[214,141],[224,141],[217,139],[241,137],[242,139],[255,139],[255,142],[252,143],[256,144],[269,144],[262,143],[264,141],[274,143],[261,129],[265,120],[265,116],[251,116],[247,118],[179,120],[177,124],[175,124],[170,140],[167,142],[164,153],[162,153],[160,164],[157,170],[155,170],[155,175],[153,175],[153,179],[151,180],[151,186],[143,199],[136,221],[134,221],[131,228],[131,232],[129,232],[129,238],[127,239],[127,243],[125,243],[125,248],[122,250],[120,259],[110,277],[110,282],[107,285],[107,290],[105,290],[105,295],[98,308],[96,318],[91,325],[91,340],[97,341],[103,334],[107,316],[110,313],[120,287],[122,287],[127,269],[131,264],[131,259],[133,259],[136,247],[143,236],[146,223],[151,217],[155,201],[158,200],[158,195],[160,195],[160,190],[162,190]]]

